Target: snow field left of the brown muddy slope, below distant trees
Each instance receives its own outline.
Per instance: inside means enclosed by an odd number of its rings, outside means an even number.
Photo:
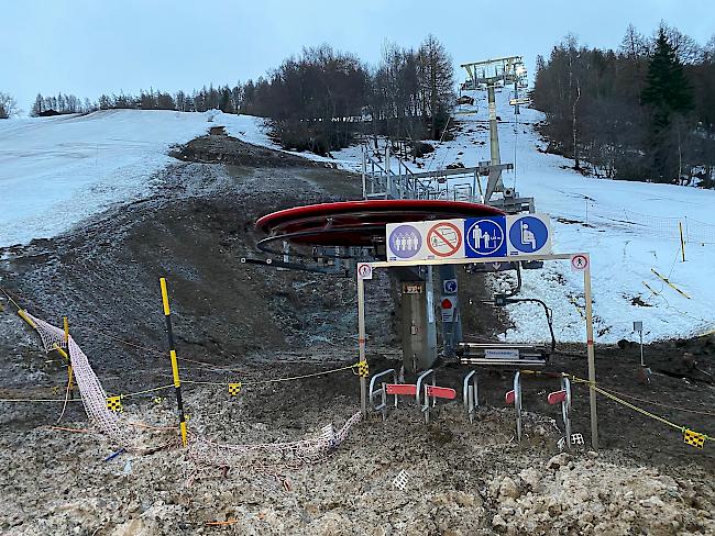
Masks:
[[[218,122],[270,144],[256,118],[220,112],[108,110],[0,121],[0,246],[50,238],[150,194],[155,174],[173,160],[169,147]]]

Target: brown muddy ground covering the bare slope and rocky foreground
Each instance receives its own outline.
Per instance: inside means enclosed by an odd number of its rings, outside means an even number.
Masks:
[[[256,217],[354,199],[359,179],[220,131],[177,148],[176,156],[153,197],[52,241],[0,252],[0,286],[56,325],[68,316],[111,393],[170,383],[162,276],[169,281],[185,380],[261,382],[353,364],[351,279],[265,269],[241,258],[256,256]],[[460,279],[460,302],[472,301],[464,314],[469,338],[493,339],[505,319],[482,303],[481,279]],[[370,283],[373,372],[398,365],[394,299],[387,276]],[[0,303],[0,398],[59,398],[62,360],[40,350],[7,297]],[[638,348],[623,346],[597,348],[604,387],[648,401],[631,400],[674,423],[715,431],[712,338],[647,347],[649,383],[638,381]],[[584,348],[559,349],[548,370],[585,377]],[[464,373],[446,362],[438,382],[461,397]],[[229,470],[197,466],[173,446],[173,429],[145,427],[174,424],[170,390],[124,399],[124,426],[147,447],[165,448],[108,461],[118,446],[91,429],[80,403],[70,402],[57,425],[62,403],[0,402],[0,532],[715,534],[713,442],[694,449],[679,431],[600,398],[601,451],[584,446],[559,455],[562,425],[546,403],[558,381],[530,377],[519,445],[513,410],[503,402],[510,381],[512,372],[481,373],[483,407],[474,424],[460,398],[438,407],[429,425],[406,401],[385,423],[377,414],[359,423],[324,461],[293,467],[249,457]],[[351,370],[246,384],[239,397],[208,383],[185,383],[184,390],[191,434],[226,444],[317,437],[329,422],[340,427],[359,402]],[[587,391],[574,387],[573,432],[586,439],[587,407]],[[408,477],[400,490],[393,480],[403,470]]]

